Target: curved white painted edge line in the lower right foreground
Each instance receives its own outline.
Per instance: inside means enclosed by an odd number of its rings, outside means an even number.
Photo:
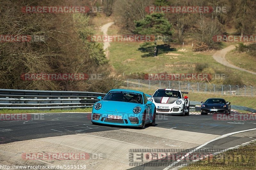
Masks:
[[[253,130],[256,130],[256,128],[254,128],[254,129],[248,129],[248,130],[244,130],[244,131],[236,131],[236,132],[232,132],[232,133],[227,133],[227,134],[221,135],[221,136],[218,137],[218,138],[215,138],[215,139],[212,139],[212,140],[210,140],[210,141],[208,141],[208,142],[205,142],[203,145],[200,145],[200,146],[198,146],[196,149],[193,149],[192,151],[186,153],[186,155],[182,156],[180,159],[176,160],[176,161],[173,162],[171,165],[169,165],[169,166],[167,166],[166,168],[164,168],[164,170],[168,170],[170,167],[176,165],[176,164],[179,163],[182,159],[186,158],[190,153],[193,153],[193,152],[197,151],[197,150],[200,149],[201,147],[203,147],[203,146],[205,146],[205,145],[207,145],[207,144],[209,144],[209,143],[211,143],[211,142],[213,142],[213,141],[215,141],[215,140],[218,140],[218,139],[221,139],[221,138],[225,138],[225,137],[227,137],[227,136],[231,136],[231,135],[234,135],[234,134],[236,134],[236,133],[241,133],[241,132],[245,132],[245,131],[253,131]]]

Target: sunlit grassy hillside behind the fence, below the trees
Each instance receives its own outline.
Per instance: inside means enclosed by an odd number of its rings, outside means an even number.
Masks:
[[[108,31],[109,35],[118,34],[118,27],[112,25]],[[147,73],[197,73],[197,63],[207,64],[204,73],[230,73],[231,77],[240,77],[245,85],[256,85],[254,74],[225,67],[212,58],[215,51],[193,52],[191,46],[185,46],[185,51],[180,46],[170,47],[168,53],[161,53],[157,57],[141,57],[145,53],[138,50],[139,42],[111,42],[109,47],[110,64],[119,74],[147,74]],[[160,44],[161,45],[161,44]],[[223,47],[228,46],[227,43]],[[245,59],[244,59],[245,60]],[[249,60],[250,62],[250,60]],[[215,80],[215,84],[223,83]],[[234,84],[235,85],[235,84]]]

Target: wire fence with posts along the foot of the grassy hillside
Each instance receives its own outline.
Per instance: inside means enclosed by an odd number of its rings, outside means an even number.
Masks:
[[[148,89],[179,89],[188,92],[202,92],[216,95],[230,96],[256,96],[256,87],[238,86],[238,85],[222,85],[210,84],[205,82],[189,82],[189,81],[158,81],[145,79],[127,79],[125,81],[127,88],[148,88]]]

